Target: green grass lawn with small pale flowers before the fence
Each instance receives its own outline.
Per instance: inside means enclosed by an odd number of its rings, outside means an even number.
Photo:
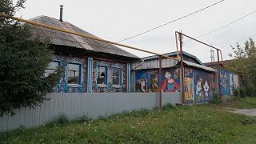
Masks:
[[[256,107],[256,98],[225,104],[166,106],[110,118],[50,122],[0,134],[0,143],[255,143],[256,118],[219,106]]]

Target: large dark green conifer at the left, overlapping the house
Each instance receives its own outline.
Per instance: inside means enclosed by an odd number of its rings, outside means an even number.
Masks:
[[[0,0],[0,12],[13,16],[26,0]],[[53,51],[49,42],[39,41],[30,26],[10,18],[0,18],[0,115],[22,106],[38,106],[56,86],[59,71],[45,78]]]

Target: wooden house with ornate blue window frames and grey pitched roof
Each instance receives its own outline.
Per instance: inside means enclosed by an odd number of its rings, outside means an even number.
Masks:
[[[30,19],[48,26],[94,36],[74,26],[48,16]],[[138,58],[126,50],[41,26],[31,26],[32,33],[40,39],[50,40],[54,55],[46,76],[54,73],[58,66],[65,66],[65,72],[54,92],[125,92],[130,86],[130,65]],[[96,36],[94,36],[96,37]]]

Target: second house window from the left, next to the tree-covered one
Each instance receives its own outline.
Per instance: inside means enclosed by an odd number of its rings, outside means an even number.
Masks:
[[[80,65],[69,63],[68,68],[68,84],[79,85]]]

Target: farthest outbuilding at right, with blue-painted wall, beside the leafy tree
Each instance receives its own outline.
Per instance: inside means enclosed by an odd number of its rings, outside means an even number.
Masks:
[[[229,68],[226,68],[223,65],[230,66],[232,63],[232,60],[226,60],[221,62],[221,93],[224,96],[230,96],[234,94],[234,89],[238,88],[238,86],[241,85],[242,75],[238,73],[237,71],[230,70]],[[217,69],[218,62],[206,62],[204,63],[205,66],[212,67],[214,69]]]

